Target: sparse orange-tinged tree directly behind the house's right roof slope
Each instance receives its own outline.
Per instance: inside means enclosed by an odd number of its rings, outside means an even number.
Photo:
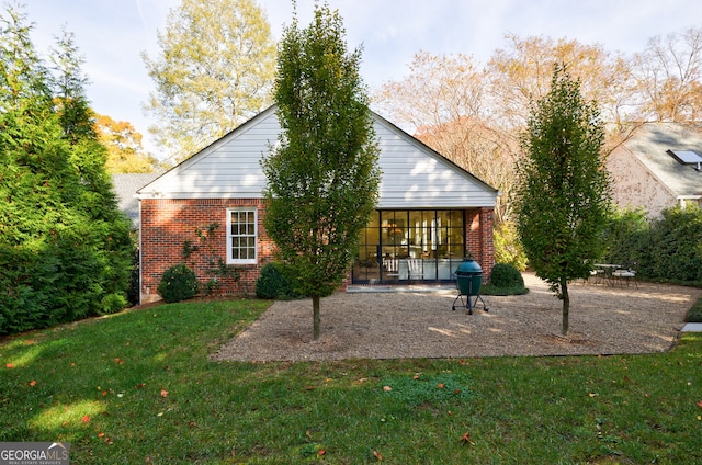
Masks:
[[[374,93],[378,112],[509,196],[518,145],[487,124],[487,77],[468,55],[415,55],[409,76]],[[502,199],[502,197],[500,197]],[[497,222],[509,214],[498,200]]]

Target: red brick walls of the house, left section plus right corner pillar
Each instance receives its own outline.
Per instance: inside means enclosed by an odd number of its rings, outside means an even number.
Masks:
[[[265,235],[265,209],[259,199],[195,199],[154,200],[143,199],[141,208],[141,303],[160,299],[158,285],[163,272],[178,263],[185,263],[195,271],[204,284],[214,277],[213,259],[227,257],[227,208],[251,207],[257,209],[258,249],[256,264],[236,264],[229,268],[240,273],[240,279],[217,276],[217,294],[251,295],[261,268],[273,260],[274,245]],[[492,208],[471,208],[465,213],[466,249],[483,268],[484,280],[495,264],[492,245]],[[208,230],[212,234],[203,232]],[[201,231],[201,235],[197,234]],[[188,245],[188,247],[186,247]]]

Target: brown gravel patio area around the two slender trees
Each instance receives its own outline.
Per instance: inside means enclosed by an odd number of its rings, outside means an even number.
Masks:
[[[701,290],[570,285],[569,333],[561,336],[562,302],[525,273],[530,293],[485,296],[452,311],[455,290],[338,293],[321,300],[321,337],[312,340],[312,300],[275,302],[213,360],[317,361],[650,353],[669,350]],[[460,303],[458,303],[460,304]]]

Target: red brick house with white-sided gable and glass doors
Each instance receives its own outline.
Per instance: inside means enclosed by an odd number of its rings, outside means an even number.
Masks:
[[[451,282],[466,254],[487,280],[495,261],[497,190],[377,114],[373,118],[383,172],[380,201],[349,283]],[[216,262],[236,266],[239,281],[218,276],[220,291],[253,292],[274,252],[262,222],[260,160],[280,132],[271,106],[137,192],[143,303],[159,298],[163,271],[181,262],[201,281]]]

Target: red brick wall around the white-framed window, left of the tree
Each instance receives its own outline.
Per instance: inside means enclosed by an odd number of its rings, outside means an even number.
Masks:
[[[227,257],[227,208],[254,207],[258,212],[258,263],[229,265],[240,273],[233,277],[218,276],[217,293],[249,295],[256,290],[261,266],[272,260],[273,243],[263,228],[262,201],[257,199],[141,200],[141,303],[160,299],[157,288],[163,272],[178,263],[186,263],[201,283],[213,277],[213,259]],[[197,229],[206,231],[216,224],[213,235],[202,240]],[[184,245],[199,249],[183,257]]]

